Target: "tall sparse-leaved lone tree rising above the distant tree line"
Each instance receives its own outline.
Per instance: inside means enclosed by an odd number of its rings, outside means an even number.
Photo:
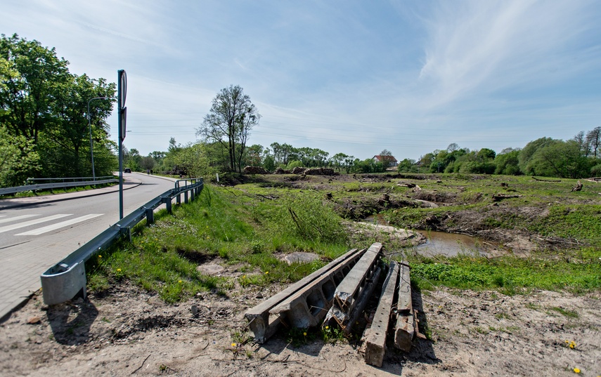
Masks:
[[[209,114],[196,130],[205,140],[213,140],[227,148],[231,171],[241,171],[246,140],[261,115],[240,86],[223,88],[213,99]]]

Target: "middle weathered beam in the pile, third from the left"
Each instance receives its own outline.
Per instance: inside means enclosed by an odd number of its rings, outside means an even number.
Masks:
[[[325,316],[324,324],[332,322],[334,319],[342,329],[347,326],[358,299],[370,285],[367,283],[377,269],[377,261],[382,255],[381,251],[382,244],[380,242],[372,244],[349,274],[338,284],[334,293],[334,302],[328,315]]]

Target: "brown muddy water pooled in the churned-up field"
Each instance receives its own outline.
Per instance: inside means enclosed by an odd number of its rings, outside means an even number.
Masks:
[[[377,223],[380,225],[389,225],[382,215],[369,216],[366,223]],[[486,246],[477,237],[470,237],[465,234],[455,234],[446,232],[433,232],[427,230],[418,230],[427,238],[425,244],[414,246],[413,251],[425,256],[457,256],[459,254],[486,255]]]

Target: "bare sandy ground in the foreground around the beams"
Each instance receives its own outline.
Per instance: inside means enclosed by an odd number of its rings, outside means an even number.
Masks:
[[[416,338],[408,353],[390,346],[376,368],[352,339],[326,343],[310,333],[292,344],[282,333],[255,344],[243,314],[279,289],[199,293],[167,305],[122,284],[52,307],[38,292],[0,325],[0,375],[572,376],[574,368],[601,375],[600,293],[414,292],[430,340]]]

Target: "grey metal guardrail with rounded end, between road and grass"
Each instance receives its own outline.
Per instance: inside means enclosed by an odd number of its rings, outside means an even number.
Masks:
[[[167,211],[171,213],[174,198],[176,198],[177,204],[181,204],[181,196],[183,195],[183,202],[188,203],[188,196],[190,196],[190,201],[194,200],[203,187],[205,187],[205,183],[202,178],[176,180],[175,188],[148,201],[148,203],[119,220],[115,225],[98,234],[84,246],[70,253],[59,263],[50,267],[40,276],[44,303],[47,305],[64,303],[78,294],[85,298],[86,260],[108,248],[120,237],[124,235],[130,237],[131,228],[143,218],[146,218],[148,224],[154,223],[154,210],[161,204],[166,204]]]

